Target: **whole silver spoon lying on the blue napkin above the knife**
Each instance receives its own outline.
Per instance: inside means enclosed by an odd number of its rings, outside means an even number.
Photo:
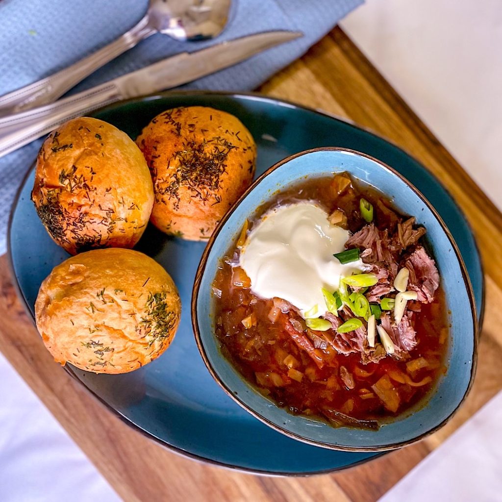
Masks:
[[[87,75],[154,33],[201,40],[221,33],[231,0],[150,0],[143,19],[127,33],[75,64],[0,96],[0,116],[52,103]]]

